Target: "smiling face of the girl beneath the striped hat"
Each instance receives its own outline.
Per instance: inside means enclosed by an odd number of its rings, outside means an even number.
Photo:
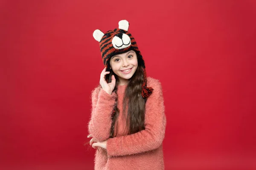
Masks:
[[[129,78],[134,75],[138,67],[137,55],[133,50],[114,55],[110,60],[110,67],[113,72],[119,77],[120,83],[125,83]],[[121,70],[130,69],[128,72]]]

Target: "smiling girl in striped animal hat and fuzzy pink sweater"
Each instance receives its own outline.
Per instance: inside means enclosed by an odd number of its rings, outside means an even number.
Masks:
[[[164,170],[166,115],[162,86],[146,76],[129,23],[105,34],[95,30],[105,68],[92,91],[88,123],[95,170]]]

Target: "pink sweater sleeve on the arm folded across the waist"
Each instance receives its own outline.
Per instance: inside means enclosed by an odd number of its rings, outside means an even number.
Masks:
[[[163,92],[160,82],[153,87],[152,94],[145,104],[145,130],[109,138],[107,141],[108,157],[143,153],[160,147],[166,129],[166,115],[163,104]]]

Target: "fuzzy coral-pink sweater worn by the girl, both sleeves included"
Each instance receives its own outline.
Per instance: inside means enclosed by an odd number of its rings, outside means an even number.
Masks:
[[[154,90],[145,104],[145,130],[127,135],[122,100],[127,85],[118,86],[117,94],[109,95],[101,86],[92,91],[92,112],[88,132],[96,141],[107,140],[107,149],[98,147],[94,170],[164,170],[163,139],[166,115],[160,81],[147,78],[147,86]],[[115,98],[118,95],[118,103]],[[109,138],[111,113],[117,104],[120,109],[117,136]],[[115,126],[116,127],[116,126]]]

